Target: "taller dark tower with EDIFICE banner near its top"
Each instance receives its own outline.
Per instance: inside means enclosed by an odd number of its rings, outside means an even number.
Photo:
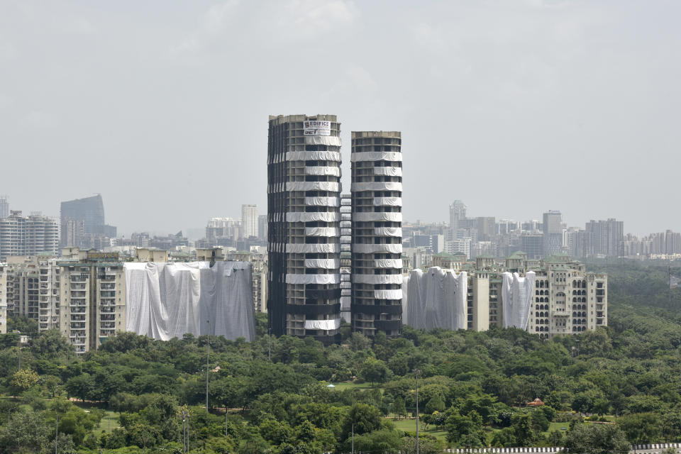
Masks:
[[[339,335],[340,133],[335,115],[270,116],[267,314],[277,336]]]

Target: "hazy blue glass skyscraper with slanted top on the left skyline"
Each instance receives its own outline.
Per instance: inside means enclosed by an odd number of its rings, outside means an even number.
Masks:
[[[116,227],[104,223],[104,202],[100,194],[62,201],[60,220],[64,247],[88,246],[98,236],[116,237]]]

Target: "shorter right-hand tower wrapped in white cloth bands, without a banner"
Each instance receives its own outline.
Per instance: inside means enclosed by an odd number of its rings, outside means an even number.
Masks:
[[[402,333],[402,135],[352,133],[352,328]]]

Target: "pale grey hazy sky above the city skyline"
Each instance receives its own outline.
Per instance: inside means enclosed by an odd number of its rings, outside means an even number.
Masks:
[[[404,216],[681,230],[679,1],[0,2],[0,194],[175,232],[267,211],[267,116],[402,131]]]

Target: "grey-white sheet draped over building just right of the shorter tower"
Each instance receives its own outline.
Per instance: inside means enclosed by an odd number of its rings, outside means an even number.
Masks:
[[[413,328],[467,328],[467,275],[431,267],[413,270],[402,283],[402,319]],[[406,298],[404,297],[406,295]]]

